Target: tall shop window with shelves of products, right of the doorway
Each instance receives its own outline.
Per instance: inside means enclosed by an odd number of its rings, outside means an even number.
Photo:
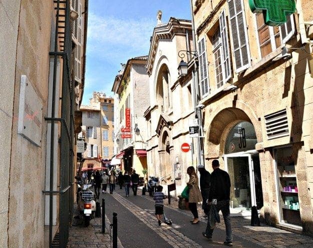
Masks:
[[[301,225],[298,188],[292,147],[275,149],[280,214],[283,223]]]

